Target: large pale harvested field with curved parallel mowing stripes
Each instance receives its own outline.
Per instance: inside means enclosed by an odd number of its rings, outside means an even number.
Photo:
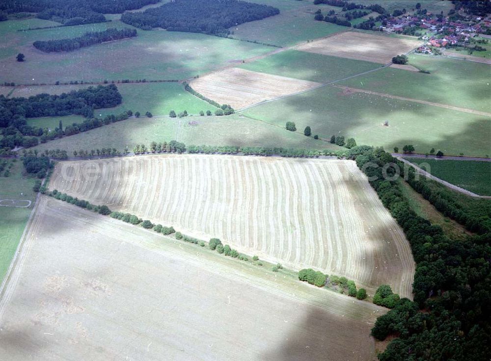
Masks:
[[[411,297],[402,230],[355,162],[156,155],[60,162],[51,189],[295,269]]]

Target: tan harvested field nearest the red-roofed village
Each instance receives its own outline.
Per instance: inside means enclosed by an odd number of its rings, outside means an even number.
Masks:
[[[347,31],[302,44],[297,47],[297,50],[388,64],[395,55],[407,53],[420,44],[422,41],[409,38]]]

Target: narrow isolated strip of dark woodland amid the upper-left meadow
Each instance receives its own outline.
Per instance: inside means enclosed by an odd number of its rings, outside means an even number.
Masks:
[[[42,52],[71,52],[93,44],[100,44],[105,41],[120,40],[136,36],[136,29],[110,28],[98,32],[86,32],[78,38],[35,41],[32,45]]]

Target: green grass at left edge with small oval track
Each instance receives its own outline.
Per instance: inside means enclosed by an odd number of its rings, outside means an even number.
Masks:
[[[12,159],[0,158],[0,161],[3,160],[12,162]],[[16,161],[13,162],[8,177],[4,177],[4,171],[0,173],[0,200],[12,199],[34,202],[36,197],[32,191],[34,179],[23,177],[23,170],[22,162]],[[23,193],[22,196],[21,193]],[[0,282],[15,255],[33,206],[33,204],[28,208],[0,206]]]

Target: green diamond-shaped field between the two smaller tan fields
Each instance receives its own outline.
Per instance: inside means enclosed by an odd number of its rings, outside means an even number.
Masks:
[[[240,68],[254,72],[327,83],[380,68],[368,61],[344,59],[297,50],[286,50],[261,58]]]

